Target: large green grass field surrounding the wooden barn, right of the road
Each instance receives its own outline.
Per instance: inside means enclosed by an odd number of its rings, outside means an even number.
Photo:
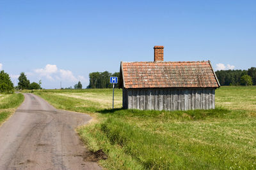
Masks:
[[[89,113],[77,129],[106,169],[255,169],[256,87],[221,87],[216,110],[122,110],[122,90],[40,90],[56,108]]]

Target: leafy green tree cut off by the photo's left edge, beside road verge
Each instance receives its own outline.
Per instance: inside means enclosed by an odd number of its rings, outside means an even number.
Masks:
[[[13,93],[13,83],[10,80],[10,76],[7,73],[4,73],[2,70],[0,72],[0,92],[1,93]]]

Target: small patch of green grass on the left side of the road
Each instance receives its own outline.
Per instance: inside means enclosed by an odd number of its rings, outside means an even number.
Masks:
[[[23,101],[22,94],[0,94],[0,125],[15,112]]]

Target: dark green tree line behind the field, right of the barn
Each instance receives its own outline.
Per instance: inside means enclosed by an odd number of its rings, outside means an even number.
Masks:
[[[216,71],[220,85],[256,85],[256,67]]]

